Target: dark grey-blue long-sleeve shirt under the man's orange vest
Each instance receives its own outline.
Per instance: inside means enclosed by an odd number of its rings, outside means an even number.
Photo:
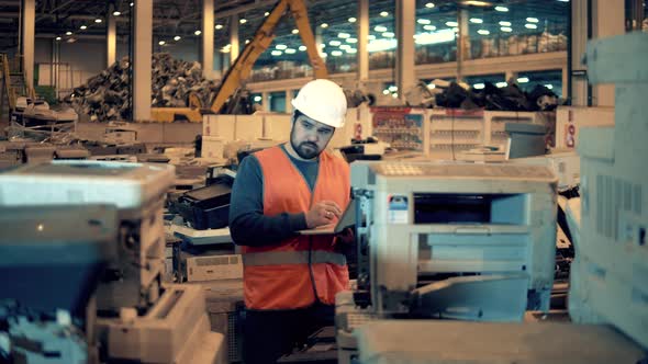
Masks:
[[[291,157],[284,146],[281,149],[312,192],[317,181],[319,159],[299,160]],[[234,242],[249,247],[272,246],[306,228],[305,212],[264,215],[264,173],[254,155],[245,158],[238,167],[230,204],[230,232]]]

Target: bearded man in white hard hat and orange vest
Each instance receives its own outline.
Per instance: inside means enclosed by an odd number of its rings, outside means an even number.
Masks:
[[[244,359],[273,363],[315,329],[333,325],[348,289],[337,240],[297,231],[335,224],[349,202],[349,168],[324,149],[346,115],[342,89],[306,83],[292,100],[290,141],[245,158],[232,191],[230,230],[243,246]]]

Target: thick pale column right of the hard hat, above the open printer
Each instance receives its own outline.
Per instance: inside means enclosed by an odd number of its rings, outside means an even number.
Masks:
[[[396,1],[396,87],[399,99],[405,102],[405,92],[415,84],[414,75],[414,23],[416,1]]]

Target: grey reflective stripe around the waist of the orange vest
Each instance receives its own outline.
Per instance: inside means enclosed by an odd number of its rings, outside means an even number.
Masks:
[[[339,253],[324,250],[311,252],[311,263],[331,263],[346,265],[346,257]],[[309,264],[308,250],[266,251],[243,254],[243,264],[253,265],[280,265],[280,264]]]

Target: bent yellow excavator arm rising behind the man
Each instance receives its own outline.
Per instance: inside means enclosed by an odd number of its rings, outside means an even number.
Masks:
[[[313,67],[315,78],[328,78],[326,65],[320,57],[315,36],[311,30],[306,5],[302,0],[280,0],[259,26],[254,39],[245,46],[241,55],[238,55],[234,61],[234,65],[232,65],[227,70],[227,73],[225,73],[225,78],[221,83],[221,89],[216,93],[210,107],[211,112],[219,113],[227,99],[230,99],[230,96],[241,87],[241,82],[249,77],[256,60],[272,43],[272,39],[275,38],[275,29],[287,10],[290,10],[292,18],[297,23],[297,29],[299,30],[302,43],[306,46],[306,54],[309,55],[309,60]]]

